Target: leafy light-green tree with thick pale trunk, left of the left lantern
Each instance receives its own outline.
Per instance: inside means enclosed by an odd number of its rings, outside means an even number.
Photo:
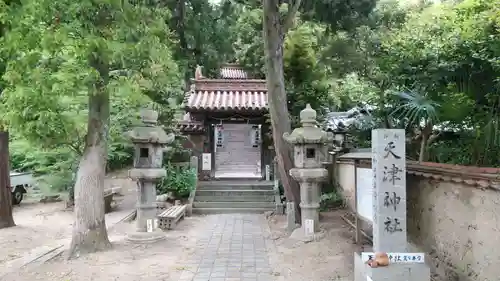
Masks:
[[[180,89],[168,11],[127,1],[41,0],[10,15],[7,118],[27,138],[61,136],[62,97],[84,98],[87,132],[75,184],[70,257],[111,246],[104,216],[110,96],[166,99]]]

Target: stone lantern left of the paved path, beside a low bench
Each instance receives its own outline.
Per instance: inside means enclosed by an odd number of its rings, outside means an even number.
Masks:
[[[141,111],[142,125],[135,127],[129,136],[134,143],[134,168],[129,177],[137,181],[137,229],[128,235],[134,242],[152,242],[163,239],[162,231],[156,231],[156,184],[167,175],[162,167],[163,151],[174,135],[156,125],[158,113],[154,110]]]

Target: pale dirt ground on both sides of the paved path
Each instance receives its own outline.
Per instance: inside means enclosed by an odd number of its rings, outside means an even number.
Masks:
[[[110,175],[106,187],[121,186],[118,208],[106,215],[113,249],[67,261],[63,255],[47,262],[34,262],[5,271],[12,263],[33,255],[33,249],[64,244],[71,237],[73,214],[65,203],[21,204],[14,209],[17,226],[0,231],[0,279],[5,281],[178,281],[183,261],[196,249],[197,234],[210,228],[203,216],[187,217],[155,244],[126,241],[134,222],[120,220],[134,209],[136,185],[125,173]],[[341,219],[342,211],[322,213],[322,239],[304,243],[289,238],[285,216],[263,219],[266,244],[273,267],[273,281],[350,281],[353,271],[353,231]],[[267,222],[267,224],[266,224]],[[62,249],[62,248],[61,248]],[[238,279],[239,280],[239,279]],[[209,281],[209,280],[206,280]]]

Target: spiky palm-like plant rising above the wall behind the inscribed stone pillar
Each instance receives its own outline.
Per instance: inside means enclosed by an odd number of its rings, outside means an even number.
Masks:
[[[399,92],[396,94],[402,104],[396,107],[391,116],[405,121],[407,127],[417,127],[420,131],[420,153],[418,161],[426,160],[426,151],[432,128],[439,121],[439,104],[417,92]]]

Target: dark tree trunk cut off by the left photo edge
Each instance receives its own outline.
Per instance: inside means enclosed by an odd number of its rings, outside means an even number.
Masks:
[[[15,226],[9,168],[9,132],[0,131],[0,229]]]

